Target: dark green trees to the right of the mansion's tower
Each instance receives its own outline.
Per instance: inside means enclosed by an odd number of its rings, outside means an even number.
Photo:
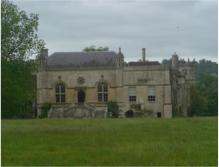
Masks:
[[[210,60],[195,61],[196,84],[191,91],[192,116],[218,115],[218,64]]]

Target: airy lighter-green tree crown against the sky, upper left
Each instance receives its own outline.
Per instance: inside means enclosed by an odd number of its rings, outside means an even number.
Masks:
[[[36,34],[38,15],[20,10],[8,0],[1,1],[1,58],[27,60],[44,46]]]

